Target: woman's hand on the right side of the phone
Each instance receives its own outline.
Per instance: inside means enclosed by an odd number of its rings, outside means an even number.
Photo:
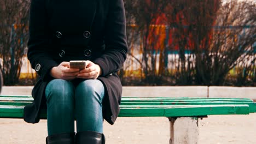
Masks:
[[[101,67],[91,61],[86,61],[86,68],[80,70],[77,78],[80,79],[97,79],[101,75]]]

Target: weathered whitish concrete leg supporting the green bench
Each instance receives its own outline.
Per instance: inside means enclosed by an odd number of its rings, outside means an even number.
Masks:
[[[170,144],[196,144],[199,136],[197,117],[169,118]]]

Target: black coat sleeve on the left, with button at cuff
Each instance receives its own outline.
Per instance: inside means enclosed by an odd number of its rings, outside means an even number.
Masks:
[[[42,80],[49,79],[50,69],[58,65],[50,55],[50,33],[47,23],[45,1],[32,0],[27,57]]]

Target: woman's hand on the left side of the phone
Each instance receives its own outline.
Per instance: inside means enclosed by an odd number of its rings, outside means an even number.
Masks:
[[[55,79],[73,80],[79,74],[79,69],[69,68],[69,62],[62,62],[50,70],[50,75]]]

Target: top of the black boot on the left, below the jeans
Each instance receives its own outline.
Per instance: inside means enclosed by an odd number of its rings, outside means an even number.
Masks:
[[[74,144],[75,133],[63,133],[49,135],[46,137],[46,144]]]

